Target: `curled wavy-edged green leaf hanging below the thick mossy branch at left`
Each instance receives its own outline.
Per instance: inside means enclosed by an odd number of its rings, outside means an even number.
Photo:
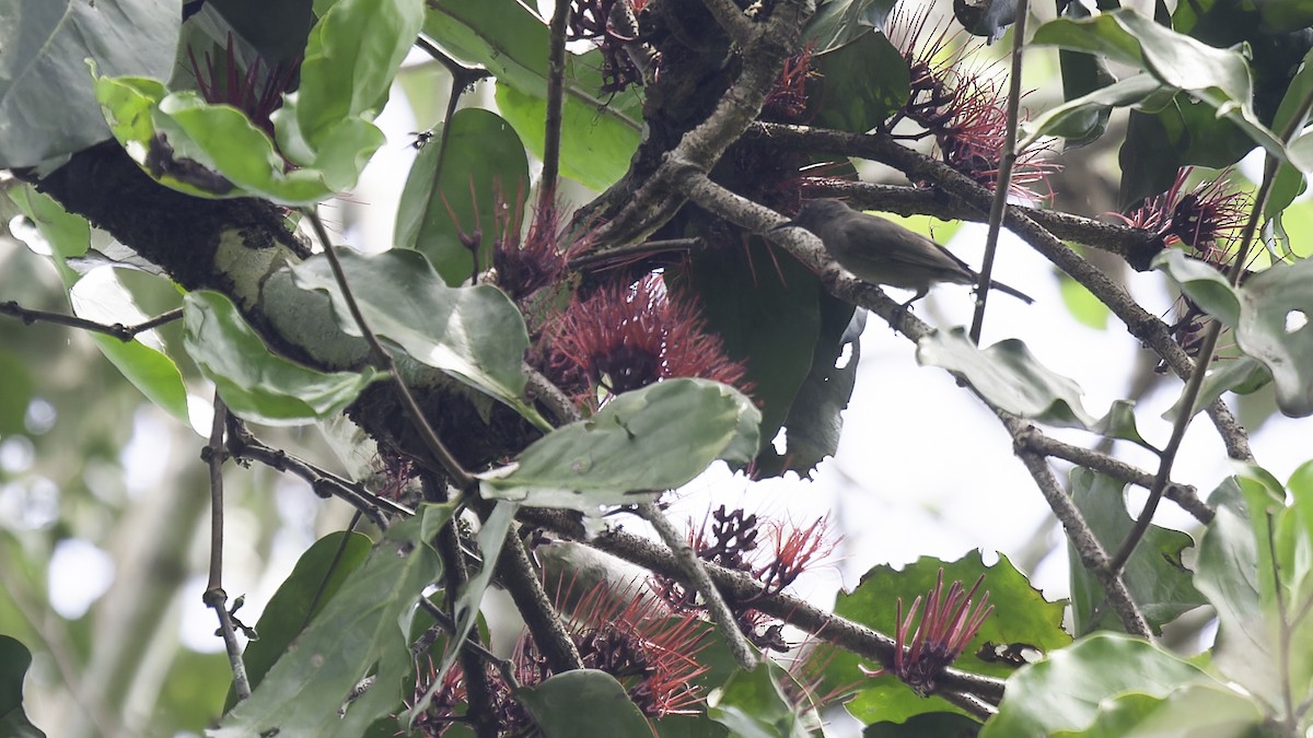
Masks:
[[[336,415],[382,378],[370,368],[326,374],[270,352],[221,293],[188,293],[184,303],[186,352],[246,420],[295,425]]]

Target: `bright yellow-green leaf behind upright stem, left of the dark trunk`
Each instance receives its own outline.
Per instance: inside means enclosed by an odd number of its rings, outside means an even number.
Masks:
[[[496,106],[534,156],[542,158],[548,102],[516,87],[496,85]],[[457,113],[460,114],[460,112]],[[600,114],[578,96],[567,96],[561,110],[561,173],[601,192],[629,171],[638,148],[638,131],[616,114]]]

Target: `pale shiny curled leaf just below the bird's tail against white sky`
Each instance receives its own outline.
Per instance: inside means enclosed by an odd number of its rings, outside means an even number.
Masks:
[[[1090,415],[1081,403],[1081,387],[1041,365],[1016,339],[981,351],[962,327],[934,331],[916,341],[916,361],[965,376],[985,399],[1014,415],[1152,448],[1136,428],[1130,403],[1115,402],[1103,418]]]

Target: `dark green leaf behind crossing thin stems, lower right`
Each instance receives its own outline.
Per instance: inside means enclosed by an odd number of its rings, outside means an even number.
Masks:
[[[1116,479],[1075,467],[1071,470],[1071,499],[1104,550],[1115,552],[1134,525],[1127,513],[1125,485]],[[1186,549],[1194,545],[1188,533],[1150,525],[1123,570],[1130,599],[1155,633],[1182,613],[1205,604],[1192,583],[1194,574],[1182,561]],[[1121,624],[1108,607],[1103,586],[1081,566],[1070,545],[1069,552],[1073,629],[1078,636],[1120,630]]]

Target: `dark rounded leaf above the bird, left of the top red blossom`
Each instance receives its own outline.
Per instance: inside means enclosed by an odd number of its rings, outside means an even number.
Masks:
[[[867,32],[815,63],[822,74],[815,121],[823,127],[867,133],[911,95],[907,62],[882,33]]]

